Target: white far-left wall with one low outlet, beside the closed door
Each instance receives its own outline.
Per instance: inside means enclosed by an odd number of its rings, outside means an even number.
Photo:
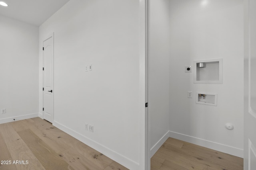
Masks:
[[[38,116],[38,27],[0,16],[0,123]]]

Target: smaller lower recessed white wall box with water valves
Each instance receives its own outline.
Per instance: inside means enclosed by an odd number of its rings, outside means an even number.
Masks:
[[[217,94],[196,92],[196,103],[217,106]]]

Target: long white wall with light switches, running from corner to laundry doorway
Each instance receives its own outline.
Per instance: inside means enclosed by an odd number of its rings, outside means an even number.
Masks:
[[[53,125],[138,169],[139,1],[70,0],[39,28],[40,70],[42,41],[52,32]],[[85,72],[86,64],[92,71]],[[42,88],[42,71],[39,80]],[[39,99],[42,116],[41,91]]]

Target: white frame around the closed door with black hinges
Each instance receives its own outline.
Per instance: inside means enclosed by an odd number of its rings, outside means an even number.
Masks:
[[[48,35],[42,42],[42,46],[44,47],[44,41],[47,41],[48,39],[52,38],[52,58],[53,58],[53,70],[52,70],[52,97],[53,97],[53,102],[52,102],[52,105],[53,105],[53,112],[52,112],[52,123],[54,121],[54,32],[51,33],[50,35]],[[42,48],[43,48],[42,47]],[[43,50],[43,49],[42,49]],[[42,62],[42,68],[44,68],[44,50],[43,50],[43,53],[42,53],[42,59],[43,59],[43,62]],[[42,87],[44,88],[44,70],[42,69]],[[42,106],[44,108],[44,91],[43,91],[43,95],[42,95]],[[42,118],[44,119],[44,111],[43,111],[43,115],[42,115]]]

